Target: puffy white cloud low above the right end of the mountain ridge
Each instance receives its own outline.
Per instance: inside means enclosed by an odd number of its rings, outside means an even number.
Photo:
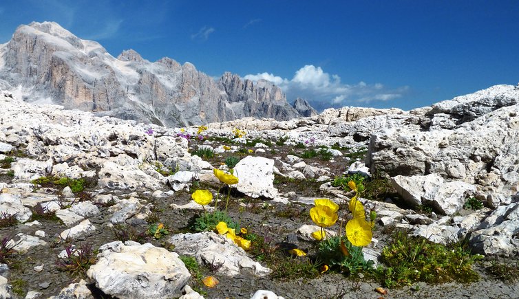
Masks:
[[[305,65],[297,71],[293,78],[282,78],[274,74],[261,73],[244,76],[248,80],[268,80],[279,86],[285,93],[288,101],[295,98],[305,98],[315,109],[328,107],[343,107],[369,102],[383,102],[401,98],[409,87],[389,89],[381,83],[345,84],[341,77],[328,74],[321,67]]]

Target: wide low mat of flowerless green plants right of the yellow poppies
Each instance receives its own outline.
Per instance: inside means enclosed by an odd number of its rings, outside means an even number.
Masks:
[[[462,243],[445,246],[408,236],[406,232],[396,232],[392,239],[381,254],[381,262],[386,267],[376,271],[385,287],[413,285],[419,281],[470,283],[479,279],[472,264],[483,256],[470,254]]]

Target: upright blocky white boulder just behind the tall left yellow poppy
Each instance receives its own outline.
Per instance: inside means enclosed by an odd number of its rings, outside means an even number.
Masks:
[[[234,167],[238,178],[237,190],[249,197],[273,199],[277,195],[274,188],[274,160],[265,157],[247,156]]]

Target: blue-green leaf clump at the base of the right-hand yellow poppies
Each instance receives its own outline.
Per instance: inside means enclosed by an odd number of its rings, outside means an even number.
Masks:
[[[364,260],[362,247],[353,246],[346,236],[332,236],[319,243],[317,260],[343,274],[356,274],[372,269],[373,261]]]

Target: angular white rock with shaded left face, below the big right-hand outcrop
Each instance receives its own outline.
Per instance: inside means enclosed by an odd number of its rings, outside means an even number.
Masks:
[[[415,175],[392,177],[396,192],[412,206],[429,204],[442,214],[452,215],[463,208],[468,195],[476,192],[476,187],[462,181],[445,181],[443,177]]]

